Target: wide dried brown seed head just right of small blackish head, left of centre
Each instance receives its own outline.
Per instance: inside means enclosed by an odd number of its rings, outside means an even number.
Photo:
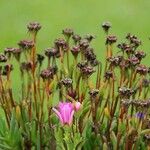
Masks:
[[[45,50],[45,55],[48,57],[48,58],[50,58],[50,57],[57,57],[57,55],[59,54],[59,51],[58,51],[58,49],[56,49],[56,48],[47,48],[46,50]]]

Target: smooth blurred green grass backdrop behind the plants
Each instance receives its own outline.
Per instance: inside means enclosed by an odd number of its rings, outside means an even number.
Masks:
[[[140,49],[147,53],[144,63],[150,65],[150,0],[0,0],[0,52],[17,46],[29,38],[26,24],[38,21],[38,51],[52,46],[62,29],[71,27],[76,33],[96,35],[93,47],[99,60],[104,60],[103,21],[112,23],[111,34],[123,41],[131,32],[143,41]],[[13,75],[18,83],[17,71]]]

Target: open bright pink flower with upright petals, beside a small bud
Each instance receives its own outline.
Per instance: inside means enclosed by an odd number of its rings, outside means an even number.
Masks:
[[[60,102],[58,109],[53,108],[62,125],[71,125],[74,115],[74,106],[70,102]]]

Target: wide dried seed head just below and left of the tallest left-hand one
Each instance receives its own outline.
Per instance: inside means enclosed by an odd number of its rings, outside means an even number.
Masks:
[[[34,42],[30,40],[22,40],[18,43],[19,47],[25,50],[30,50],[34,47]]]

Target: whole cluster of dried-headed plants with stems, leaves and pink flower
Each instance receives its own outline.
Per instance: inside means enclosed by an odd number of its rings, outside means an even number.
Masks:
[[[150,148],[150,68],[142,64],[141,40],[127,34],[115,46],[111,24],[102,28],[104,63],[91,47],[95,37],[70,28],[44,55],[37,53],[37,22],[27,26],[30,40],[0,54],[0,149]]]

